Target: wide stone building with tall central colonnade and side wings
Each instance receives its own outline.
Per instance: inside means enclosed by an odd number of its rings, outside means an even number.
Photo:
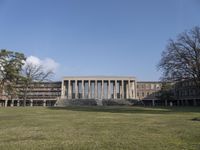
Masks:
[[[144,105],[200,105],[200,96],[192,82],[174,86],[175,100],[158,99],[162,82],[139,81],[131,76],[72,76],[59,82],[34,83],[28,88],[27,106],[54,106],[60,99],[75,100],[138,100]],[[0,106],[22,106],[24,89],[13,100],[0,95]]]

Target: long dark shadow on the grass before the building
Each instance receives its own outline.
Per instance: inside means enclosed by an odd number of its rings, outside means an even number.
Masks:
[[[109,113],[141,113],[141,114],[169,114],[176,112],[200,113],[200,107],[67,106],[67,107],[49,107],[48,109],[86,111],[86,112],[109,112]]]

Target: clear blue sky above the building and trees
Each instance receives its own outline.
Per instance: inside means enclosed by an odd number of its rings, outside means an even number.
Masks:
[[[199,25],[200,0],[0,0],[0,48],[52,60],[56,80],[159,80],[168,40]]]

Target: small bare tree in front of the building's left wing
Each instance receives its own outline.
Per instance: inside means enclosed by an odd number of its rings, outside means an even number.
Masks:
[[[26,100],[28,96],[28,92],[34,88],[37,83],[50,81],[50,78],[53,75],[52,70],[47,70],[43,68],[42,65],[35,65],[32,63],[27,63],[22,72],[22,87],[23,87],[23,99],[24,99],[24,106],[26,106]]]

